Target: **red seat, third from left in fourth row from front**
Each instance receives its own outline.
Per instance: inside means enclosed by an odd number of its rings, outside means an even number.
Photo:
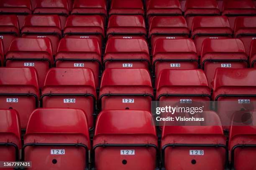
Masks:
[[[64,37],[97,38],[100,48],[104,45],[104,22],[99,15],[70,15],[64,28]]]

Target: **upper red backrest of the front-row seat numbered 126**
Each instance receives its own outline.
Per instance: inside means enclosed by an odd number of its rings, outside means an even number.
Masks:
[[[47,140],[54,143],[51,135],[73,135],[72,139],[55,140],[58,143],[79,141],[90,149],[87,117],[80,109],[39,108],[34,110],[28,120],[24,143],[49,143]],[[77,138],[74,135],[77,135]]]

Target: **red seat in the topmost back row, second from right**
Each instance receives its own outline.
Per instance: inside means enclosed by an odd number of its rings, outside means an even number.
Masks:
[[[187,20],[189,30],[192,28],[192,21],[195,16],[220,15],[216,0],[187,0],[184,17]]]

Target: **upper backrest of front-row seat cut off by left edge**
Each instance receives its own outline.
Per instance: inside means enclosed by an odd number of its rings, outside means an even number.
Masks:
[[[14,143],[21,147],[20,119],[13,109],[0,109],[0,143]]]

